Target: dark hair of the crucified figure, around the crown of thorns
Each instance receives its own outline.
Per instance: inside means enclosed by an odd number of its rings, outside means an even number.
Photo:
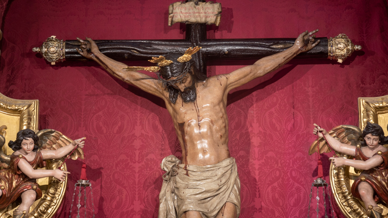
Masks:
[[[168,80],[172,77],[179,77],[182,74],[186,74],[186,72],[192,76],[194,83],[205,81],[207,79],[206,75],[202,74],[201,71],[197,68],[196,62],[193,59],[183,63],[177,61],[177,59],[182,55],[183,54],[176,53],[165,55],[166,60],[171,60],[173,63],[168,66],[160,67],[159,71],[162,82],[164,83],[165,88],[168,90],[168,99],[173,104],[175,104],[177,101],[179,90],[171,86],[171,84],[168,84],[168,81],[164,80]]]

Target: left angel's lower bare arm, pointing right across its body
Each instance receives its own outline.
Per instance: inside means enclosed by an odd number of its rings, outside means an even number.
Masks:
[[[61,171],[60,169],[54,169],[54,170],[45,170],[45,169],[34,169],[32,166],[27,162],[25,159],[20,159],[19,163],[17,164],[20,171],[26,174],[31,179],[39,179],[44,178],[48,176],[53,176],[60,181],[64,181],[64,178],[67,174],[70,174],[66,171]]]

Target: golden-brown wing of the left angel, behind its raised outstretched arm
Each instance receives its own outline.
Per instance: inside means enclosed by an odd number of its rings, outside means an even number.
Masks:
[[[39,136],[41,149],[47,151],[57,150],[73,141],[61,132],[52,129],[40,130],[36,135]],[[84,152],[81,148],[78,148],[70,155],[70,158],[73,160],[77,160],[78,158],[84,159]]]

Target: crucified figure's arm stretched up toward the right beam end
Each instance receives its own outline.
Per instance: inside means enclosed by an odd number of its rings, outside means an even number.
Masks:
[[[311,50],[320,42],[320,40],[314,42],[316,36],[313,34],[316,32],[318,32],[318,30],[314,30],[310,33],[308,33],[308,31],[303,32],[296,39],[295,44],[289,49],[275,55],[261,58],[253,65],[239,68],[230,74],[226,74],[225,76],[228,78],[226,88],[227,93],[238,86],[244,85],[255,78],[264,76],[265,74],[278,69],[298,54]]]

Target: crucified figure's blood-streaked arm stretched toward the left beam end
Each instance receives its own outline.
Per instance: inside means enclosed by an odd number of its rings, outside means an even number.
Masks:
[[[128,84],[137,86],[141,90],[156,95],[163,100],[166,99],[166,91],[162,88],[162,84],[157,79],[142,74],[141,72],[124,70],[123,68],[127,67],[126,64],[115,61],[102,54],[99,47],[91,38],[86,37],[86,41],[80,38],[77,39],[81,42],[80,49],[77,49],[80,55],[99,63],[114,77]]]

